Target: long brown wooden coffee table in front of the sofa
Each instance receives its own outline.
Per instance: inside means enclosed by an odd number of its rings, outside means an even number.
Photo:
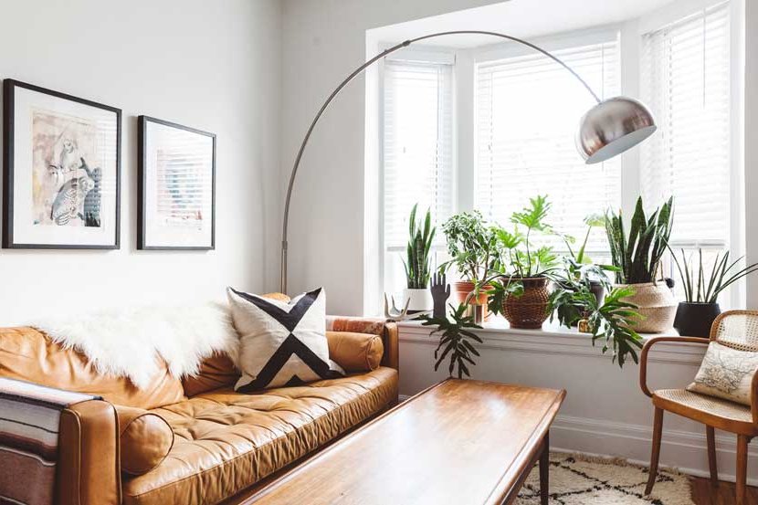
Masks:
[[[245,503],[511,503],[540,462],[564,390],[448,379],[379,416]]]

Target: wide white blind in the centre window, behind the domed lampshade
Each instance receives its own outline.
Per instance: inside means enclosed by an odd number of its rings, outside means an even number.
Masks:
[[[602,42],[553,50],[601,98],[619,94],[617,34]],[[620,161],[586,165],[576,152],[579,120],[592,96],[552,59],[540,54],[477,65],[476,206],[490,220],[511,226],[514,210],[536,194],[553,204],[550,223],[582,239],[584,217],[621,204]],[[558,239],[549,240],[564,250]],[[605,251],[595,230],[588,251]]]

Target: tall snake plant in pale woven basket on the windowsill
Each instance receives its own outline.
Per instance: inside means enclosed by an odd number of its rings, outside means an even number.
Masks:
[[[669,245],[672,207],[673,198],[669,198],[646,217],[642,197],[638,198],[628,237],[621,212],[605,214],[605,232],[617,268],[616,288],[630,288],[626,300],[638,307],[641,317],[635,330],[640,333],[667,331],[674,323],[677,302],[666,283],[656,282],[658,265]]]

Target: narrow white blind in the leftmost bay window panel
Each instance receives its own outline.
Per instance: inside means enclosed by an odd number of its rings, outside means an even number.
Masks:
[[[384,291],[405,288],[402,258],[408,215],[431,210],[437,224],[453,212],[452,66],[384,62]],[[417,217],[418,218],[418,217]],[[441,230],[437,244],[443,244]],[[439,247],[441,249],[441,247]]]

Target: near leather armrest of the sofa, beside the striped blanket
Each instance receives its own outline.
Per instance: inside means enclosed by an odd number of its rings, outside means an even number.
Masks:
[[[89,400],[61,412],[55,502],[121,503],[119,422],[110,403]]]

